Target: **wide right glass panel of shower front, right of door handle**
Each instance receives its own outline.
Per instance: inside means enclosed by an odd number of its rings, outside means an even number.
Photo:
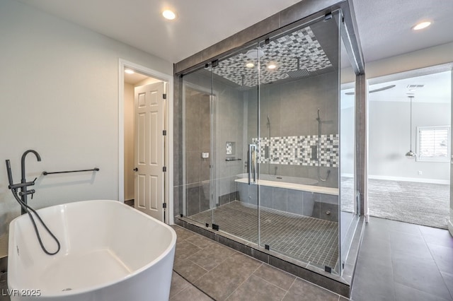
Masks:
[[[338,48],[333,17],[260,43],[260,247],[333,273]]]

